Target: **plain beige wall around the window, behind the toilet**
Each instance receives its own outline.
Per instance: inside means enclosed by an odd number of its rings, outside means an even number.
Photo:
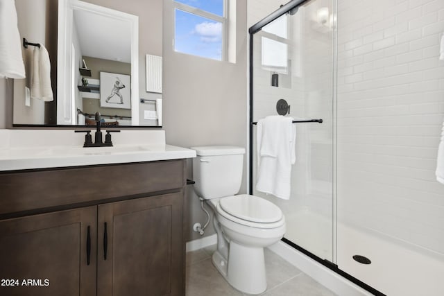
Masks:
[[[235,64],[176,53],[172,45],[174,14],[171,3],[171,0],[164,1],[163,89],[167,143],[183,147],[216,144],[245,147],[246,1],[237,1]],[[244,182],[241,191],[245,188]],[[188,197],[191,228],[196,222],[205,223],[205,214],[191,186]],[[210,224],[205,236],[213,233]],[[200,236],[191,228],[187,239],[196,238]]]

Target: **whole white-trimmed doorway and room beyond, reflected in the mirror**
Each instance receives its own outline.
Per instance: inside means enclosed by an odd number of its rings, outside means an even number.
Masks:
[[[138,17],[77,0],[59,1],[58,12],[65,71],[58,71],[57,124],[94,124],[90,116],[100,112],[109,123],[139,125]]]

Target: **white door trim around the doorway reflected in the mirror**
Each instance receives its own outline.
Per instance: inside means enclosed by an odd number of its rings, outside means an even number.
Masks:
[[[57,58],[57,125],[71,126],[77,116],[76,106],[71,100],[73,84],[71,60],[72,60],[72,30],[74,26],[74,10],[84,10],[106,17],[112,17],[131,24],[131,126],[139,125],[139,17],[126,12],[97,6],[80,0],[58,1],[58,58]],[[62,53],[62,54],[60,54]],[[65,54],[63,54],[65,53]],[[61,71],[65,69],[65,71]],[[67,71],[69,69],[70,71]],[[135,79],[137,77],[137,79]],[[63,116],[60,116],[63,115]],[[122,126],[123,127],[123,126]],[[122,128],[119,127],[119,128]],[[144,126],[150,128],[150,126]]]

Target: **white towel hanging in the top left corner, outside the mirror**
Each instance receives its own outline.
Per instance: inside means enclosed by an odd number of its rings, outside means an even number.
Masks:
[[[14,0],[0,1],[0,77],[25,78]]]

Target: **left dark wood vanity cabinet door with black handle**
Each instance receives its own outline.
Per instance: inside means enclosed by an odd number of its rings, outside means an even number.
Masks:
[[[0,295],[95,295],[96,217],[87,207],[1,220]]]

